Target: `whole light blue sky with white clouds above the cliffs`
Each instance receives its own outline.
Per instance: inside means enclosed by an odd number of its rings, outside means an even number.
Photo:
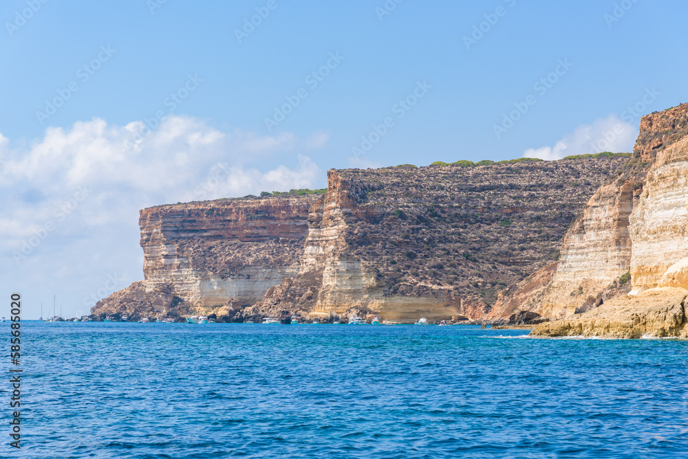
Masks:
[[[72,315],[140,280],[149,205],[320,188],[329,168],[627,151],[627,107],[688,100],[678,0],[397,1],[4,1],[0,293]]]

